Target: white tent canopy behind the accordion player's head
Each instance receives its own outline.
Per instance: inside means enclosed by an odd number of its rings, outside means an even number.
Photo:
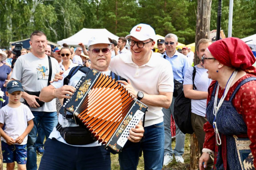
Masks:
[[[116,41],[118,41],[118,38],[119,38],[118,36],[112,34],[105,28],[104,29],[83,28],[82,30],[78,31],[76,34],[72,35],[71,37],[58,41],[57,44],[62,45],[66,43],[69,46],[78,46],[79,43],[83,43],[87,47],[89,39],[92,36],[99,36],[99,35],[108,36],[109,38],[114,39]]]

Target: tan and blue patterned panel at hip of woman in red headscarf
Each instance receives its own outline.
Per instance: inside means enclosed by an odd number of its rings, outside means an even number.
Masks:
[[[236,135],[233,135],[236,141],[237,153],[241,168],[243,170],[254,170],[253,165],[253,156],[250,149],[251,141],[249,138],[238,138]]]

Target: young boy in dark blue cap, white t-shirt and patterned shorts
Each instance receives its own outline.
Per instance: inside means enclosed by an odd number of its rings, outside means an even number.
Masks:
[[[34,126],[33,114],[30,109],[20,102],[24,92],[19,81],[10,81],[7,84],[6,96],[9,103],[0,110],[0,133],[2,143],[3,162],[7,169],[26,169],[27,163],[27,138]],[[5,130],[3,125],[6,124]]]

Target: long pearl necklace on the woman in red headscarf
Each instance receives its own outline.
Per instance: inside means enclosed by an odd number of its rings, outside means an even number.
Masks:
[[[219,83],[217,85],[217,89],[216,89],[216,94],[215,94],[215,98],[214,98],[214,109],[213,109],[213,114],[214,114],[214,122],[213,122],[213,127],[214,127],[214,131],[215,131],[215,136],[216,136],[216,141],[217,141],[217,144],[218,145],[221,145],[221,139],[220,139],[220,134],[219,134],[219,131],[218,131],[218,128],[217,128],[217,124],[216,124],[216,115],[217,115],[217,112],[219,110],[219,108],[221,107],[224,99],[226,98],[227,94],[228,94],[228,91],[229,91],[229,88],[231,87],[231,84],[232,82],[234,81],[236,75],[237,75],[238,71],[235,70],[232,75],[229,77],[229,80],[226,84],[226,87],[225,87],[225,90],[224,90],[224,93],[220,99],[220,102],[217,106],[217,101],[218,101],[218,93],[219,93]]]

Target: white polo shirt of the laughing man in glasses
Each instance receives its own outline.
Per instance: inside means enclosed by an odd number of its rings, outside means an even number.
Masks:
[[[159,92],[173,92],[173,70],[170,62],[151,53],[150,60],[137,66],[132,61],[132,54],[120,54],[111,59],[109,68],[114,73],[129,79],[136,91],[144,94],[159,95]],[[163,122],[161,107],[148,106],[145,116],[145,127]]]

